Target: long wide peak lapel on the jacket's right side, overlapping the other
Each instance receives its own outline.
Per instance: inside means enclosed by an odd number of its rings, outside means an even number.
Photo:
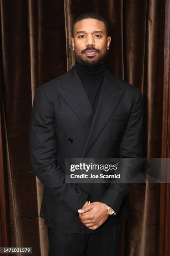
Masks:
[[[105,128],[105,125],[115,111],[124,93],[125,88],[120,87],[117,79],[107,69],[103,79],[97,109],[92,121],[89,136],[82,151],[81,159],[85,158],[97,137],[100,136],[100,133]]]

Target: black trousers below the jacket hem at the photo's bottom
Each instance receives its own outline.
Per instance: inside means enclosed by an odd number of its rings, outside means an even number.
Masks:
[[[47,229],[48,256],[118,256],[120,223],[86,236],[81,233],[65,233],[50,227]]]

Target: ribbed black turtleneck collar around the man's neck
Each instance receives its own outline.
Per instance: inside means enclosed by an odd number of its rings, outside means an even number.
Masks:
[[[81,77],[86,79],[101,79],[105,75],[106,66],[105,63],[102,63],[95,67],[87,67],[76,59],[75,70]]]

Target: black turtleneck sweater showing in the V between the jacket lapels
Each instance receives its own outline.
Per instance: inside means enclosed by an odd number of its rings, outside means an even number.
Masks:
[[[94,103],[96,103],[96,97],[99,95],[99,91],[101,90],[102,81],[106,71],[105,63],[95,67],[87,67],[76,59],[75,71],[80,77],[90,103],[94,108]]]

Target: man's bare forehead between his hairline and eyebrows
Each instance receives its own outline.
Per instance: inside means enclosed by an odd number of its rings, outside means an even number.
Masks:
[[[101,30],[103,33],[106,32],[105,24],[101,20],[91,18],[80,20],[77,23],[75,23],[74,32],[76,33],[79,30],[87,31],[87,33],[90,33],[95,30]]]

